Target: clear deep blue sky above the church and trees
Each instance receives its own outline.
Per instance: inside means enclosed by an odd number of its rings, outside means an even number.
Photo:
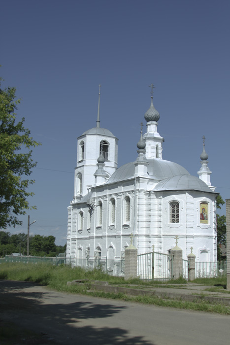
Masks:
[[[197,176],[204,135],[211,183],[230,198],[229,0],[2,0],[0,8],[2,86],[16,87],[18,119],[42,143],[33,150],[32,234],[66,243],[77,137],[96,126],[99,84],[100,126],[119,138],[119,166],[137,157],[153,83],[163,158]],[[21,219],[7,231],[26,233]]]

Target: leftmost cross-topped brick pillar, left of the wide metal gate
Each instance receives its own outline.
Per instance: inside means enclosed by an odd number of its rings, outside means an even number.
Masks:
[[[137,248],[130,244],[125,249],[125,280],[137,276]]]

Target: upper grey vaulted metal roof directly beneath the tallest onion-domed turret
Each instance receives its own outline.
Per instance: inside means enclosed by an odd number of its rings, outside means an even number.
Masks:
[[[189,175],[189,172],[185,168],[174,162],[165,161],[159,158],[147,159],[147,162],[149,162],[149,177],[156,180],[163,180],[167,177],[173,177],[175,175],[181,174]],[[106,184],[133,178],[134,171],[135,166],[133,162],[125,164],[112,174],[112,176],[108,179]]]

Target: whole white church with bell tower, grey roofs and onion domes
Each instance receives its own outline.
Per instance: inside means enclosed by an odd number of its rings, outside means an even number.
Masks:
[[[151,85],[153,90],[153,85]],[[99,92],[100,104],[100,92]],[[74,196],[68,207],[67,259],[120,259],[131,234],[138,254],[168,254],[175,246],[183,259],[217,260],[216,196],[205,152],[198,176],[163,159],[164,138],[158,133],[159,112],[144,114],[146,133],[137,143],[134,162],[118,168],[118,139],[100,127],[77,138]]]

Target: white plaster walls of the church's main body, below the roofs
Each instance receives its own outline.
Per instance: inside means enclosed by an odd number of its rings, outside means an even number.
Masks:
[[[130,234],[134,233],[134,245],[138,253],[155,251],[167,253],[175,246],[178,235],[178,246],[183,250],[183,258],[191,252],[197,261],[216,260],[216,208],[215,195],[202,192],[158,192],[148,191],[144,178],[101,185],[92,188],[92,200],[95,205],[91,214],[91,226],[87,229],[86,204],[75,204],[68,208],[67,255],[77,255],[82,248],[83,257],[90,247],[90,257],[94,257],[97,247],[101,248],[101,257],[108,255],[108,248],[113,247],[114,257],[119,258],[124,247],[131,242]],[[140,188],[141,187],[141,188]],[[131,221],[124,224],[124,199],[131,200]],[[109,223],[109,201],[115,200],[115,224]],[[97,226],[97,205],[102,203],[102,225]],[[170,223],[169,202],[178,201],[180,222]],[[209,204],[209,223],[200,224],[200,202]],[[83,230],[78,232],[79,211],[83,212]]]

